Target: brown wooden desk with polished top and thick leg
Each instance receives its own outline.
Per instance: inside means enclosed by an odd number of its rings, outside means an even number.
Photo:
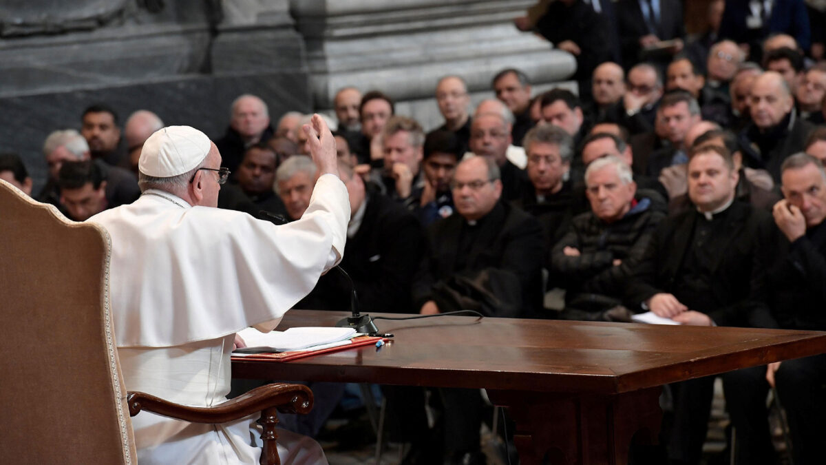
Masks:
[[[291,310],[278,329],[344,316]],[[515,419],[523,464],[624,464],[632,439],[656,440],[663,384],[826,352],[815,331],[453,316],[376,324],[396,335],[381,349],[238,361],[232,375],[486,388]]]

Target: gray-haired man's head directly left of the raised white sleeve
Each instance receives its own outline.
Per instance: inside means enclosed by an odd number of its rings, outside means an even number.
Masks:
[[[316,172],[316,164],[306,155],[287,158],[275,171],[275,192],[281,197],[289,220],[301,218],[310,206]]]

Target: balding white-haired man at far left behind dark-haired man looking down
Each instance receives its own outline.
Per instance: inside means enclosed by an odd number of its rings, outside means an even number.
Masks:
[[[60,203],[61,193],[58,184],[60,167],[66,161],[91,160],[88,142],[80,135],[80,132],[74,129],[55,131],[43,142],[43,155],[46,164],[49,165],[49,179],[36,199],[44,204],[55,205],[62,213],[67,214],[63,204]],[[108,165],[101,159],[93,162],[99,166],[103,179],[106,180],[105,194],[108,204],[112,206],[131,204],[140,196],[137,180],[131,172],[119,166]]]

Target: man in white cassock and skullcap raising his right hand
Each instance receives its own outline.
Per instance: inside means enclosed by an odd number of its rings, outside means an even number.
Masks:
[[[344,253],[347,189],[335,140],[314,116],[303,128],[320,177],[301,219],[275,226],[216,209],[221,154],[192,127],[164,127],[138,164],[140,199],[97,214],[112,237],[109,289],[126,389],[184,405],[230,391],[235,332],[270,331]],[[258,463],[254,419],[190,424],[142,412],[132,419],[140,463]],[[278,431],[282,463],[327,463],[311,439]]]

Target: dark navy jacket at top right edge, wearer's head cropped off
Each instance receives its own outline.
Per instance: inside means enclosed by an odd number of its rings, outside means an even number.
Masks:
[[[746,43],[756,36],[765,38],[771,33],[782,32],[795,37],[803,50],[809,50],[811,31],[804,0],[775,0],[768,24],[764,24],[757,35],[746,25],[746,17],[752,14],[748,2],[749,0],[726,0],[723,21],[720,22],[721,38]]]

